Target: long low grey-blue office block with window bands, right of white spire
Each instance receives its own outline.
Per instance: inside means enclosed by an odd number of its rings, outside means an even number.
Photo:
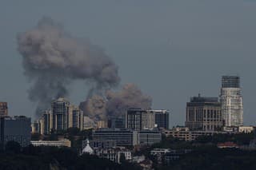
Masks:
[[[93,130],[93,140],[114,140],[117,146],[138,144],[138,132],[119,128],[99,128]]]

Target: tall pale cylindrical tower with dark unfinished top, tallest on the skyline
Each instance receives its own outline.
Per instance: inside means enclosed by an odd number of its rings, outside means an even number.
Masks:
[[[240,77],[222,76],[220,101],[224,126],[242,126],[243,106]]]

